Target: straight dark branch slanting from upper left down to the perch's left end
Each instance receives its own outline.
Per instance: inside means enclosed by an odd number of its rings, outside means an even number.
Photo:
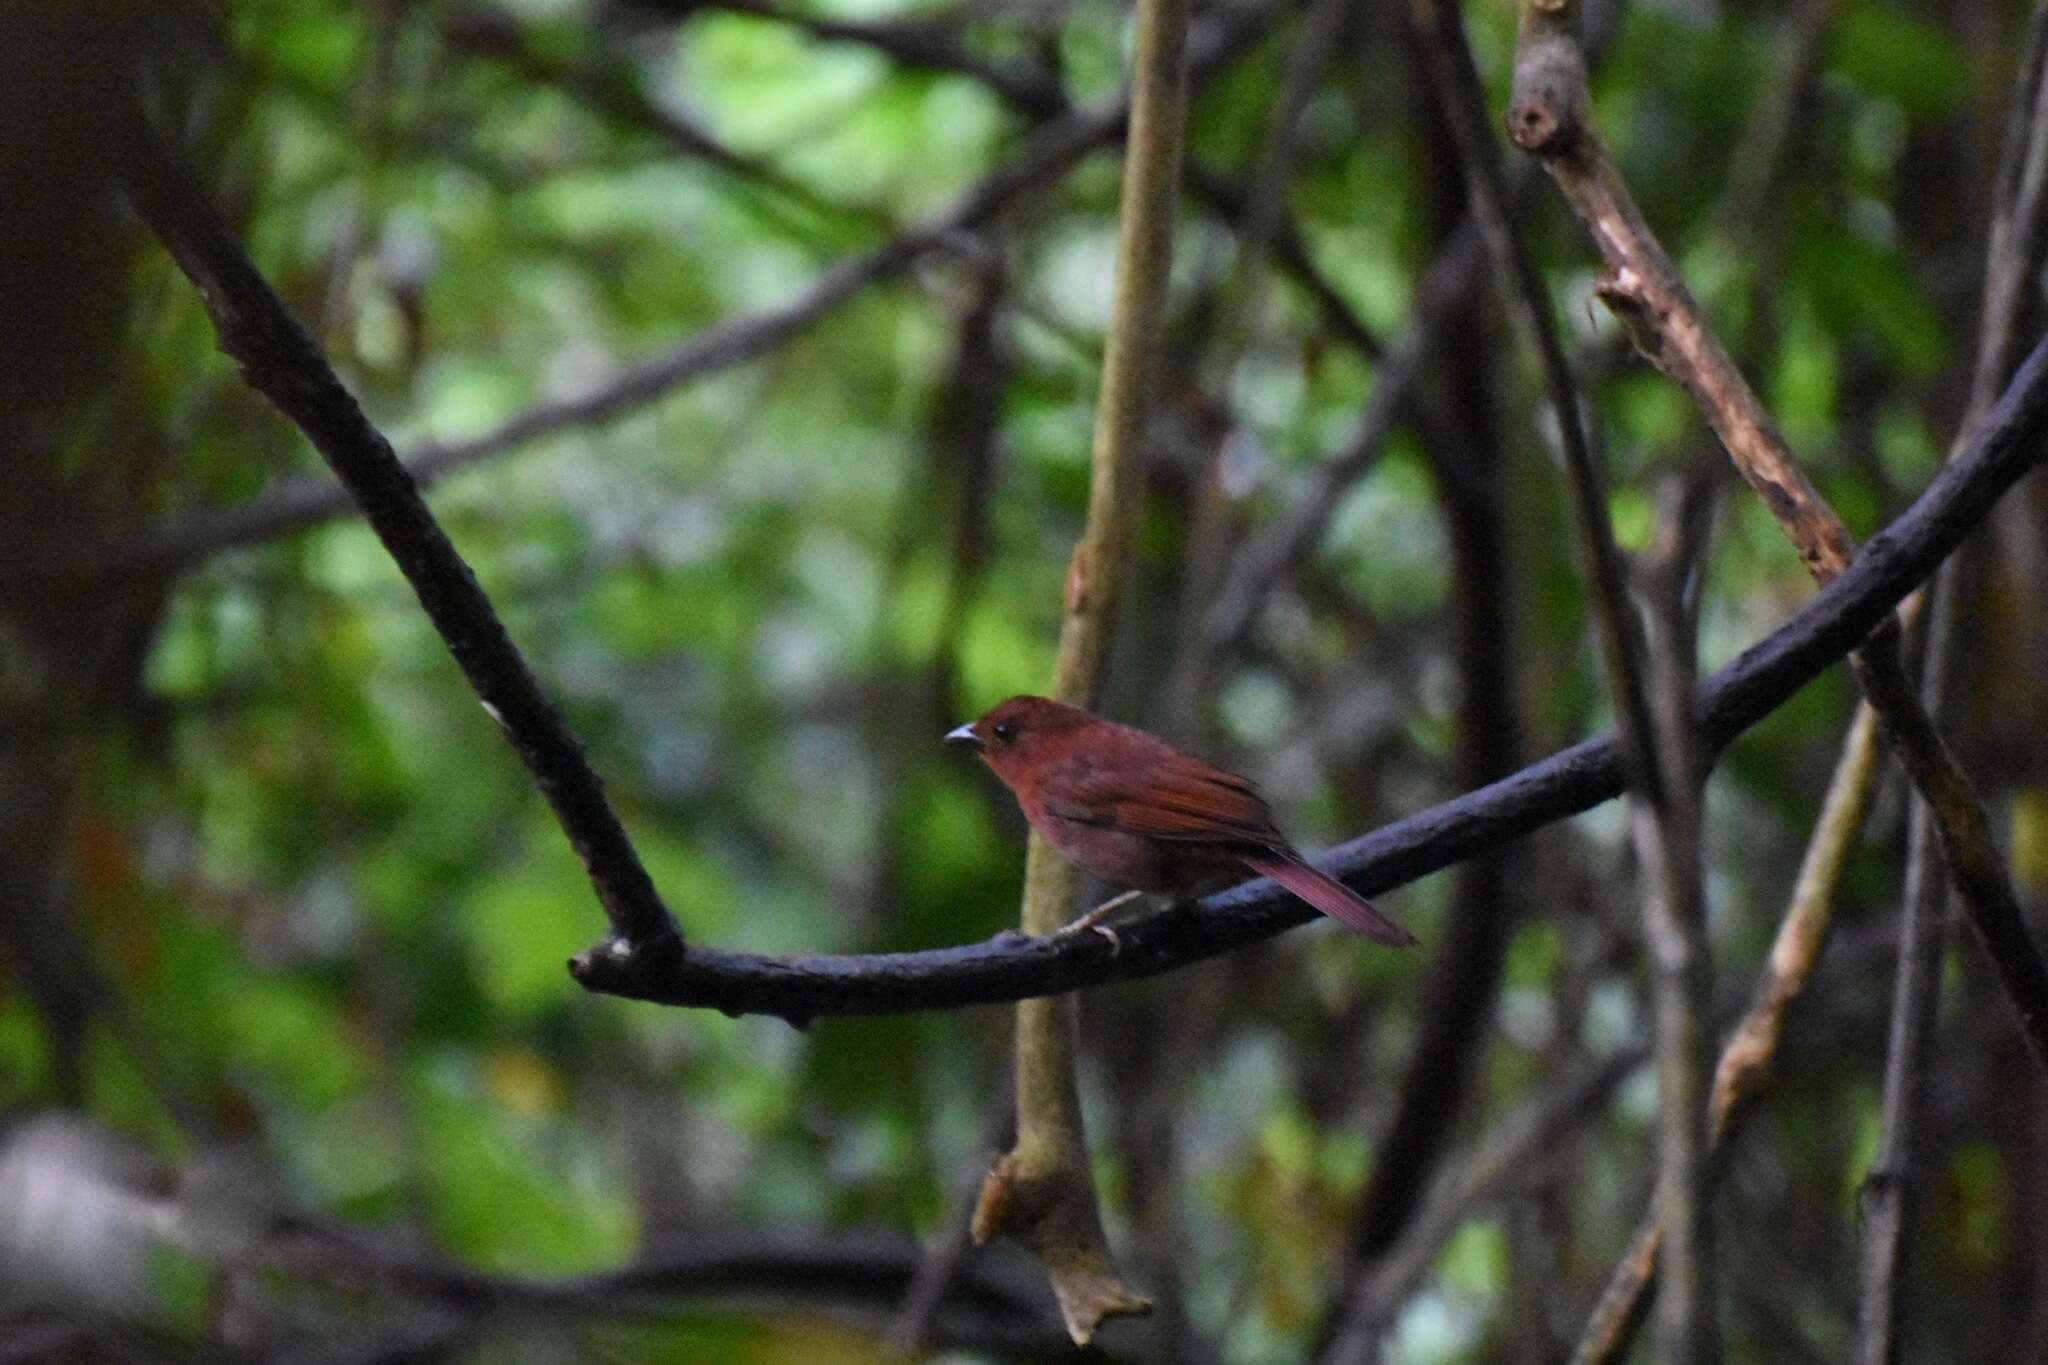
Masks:
[[[313,338],[227,235],[182,153],[139,111],[125,121],[121,182],[199,289],[242,375],[291,417],[362,508],[377,538],[555,810],[604,902],[612,933],[647,962],[680,962],[682,935],[641,866],[604,784],[492,610],[412,475],[328,366]]]

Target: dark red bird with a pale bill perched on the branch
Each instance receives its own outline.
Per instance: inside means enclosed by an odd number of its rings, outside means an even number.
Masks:
[[[1104,882],[1192,896],[1255,872],[1374,943],[1415,943],[1366,898],[1303,862],[1249,782],[1157,735],[1042,696],[1014,696],[948,731],[946,743],[977,749],[1016,792],[1032,829]]]

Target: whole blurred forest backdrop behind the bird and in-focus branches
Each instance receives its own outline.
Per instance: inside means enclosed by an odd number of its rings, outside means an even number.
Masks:
[[[2044,10],[1563,18],[1618,182],[1866,540],[2038,336]],[[195,194],[414,469],[692,948],[975,943],[1026,831],[940,735],[1051,686],[1130,4],[0,8],[0,1361],[2042,1359],[2048,487],[1972,514],[1903,636],[1980,796],[1970,896],[1855,718],[1888,636],[1698,745],[1694,802],[1671,698],[1808,606],[1780,520],[1817,522],[1630,344],[1671,315],[1616,321],[1585,149],[1509,137],[1552,23],[1190,18],[1100,708],[1309,849],[1612,729],[1630,673],[1647,729],[1634,798],[1386,862],[1415,952],[1225,902],[1061,960],[1100,982],[1087,1171],[1153,1302],[1083,1351],[1024,1250],[967,1246],[1008,1007],[799,1029],[571,978],[586,866],[315,426],[221,354],[254,295]],[[317,356],[256,334],[291,409]],[[1268,921],[1202,948],[1233,913]],[[1763,1068],[1716,1085],[1739,1025]],[[1694,1314],[1602,1314],[1661,1166],[1712,1228]]]

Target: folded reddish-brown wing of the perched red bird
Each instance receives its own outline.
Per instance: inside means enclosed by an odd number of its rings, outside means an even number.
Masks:
[[[1120,829],[1151,839],[1202,843],[1278,841],[1272,810],[1249,782],[1186,753],[1149,755],[1116,767],[1075,763],[1061,782],[1063,800],[1047,810],[1065,821]]]

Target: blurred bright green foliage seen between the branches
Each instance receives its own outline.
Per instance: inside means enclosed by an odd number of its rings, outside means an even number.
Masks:
[[[186,121],[258,266],[408,454],[588,399],[629,366],[786,307],[981,184],[1032,123],[973,74],[764,14],[477,8],[504,33],[465,37],[465,6],[223,6],[231,57]],[[1130,8],[1108,0],[786,8],[932,25],[967,53],[1051,61],[1077,102],[1114,92],[1128,61]],[[1458,213],[1462,180],[1440,129],[1421,125],[1430,106],[1389,14],[1354,14],[1305,100],[1280,201],[1374,348],[1348,344],[1290,266],[1184,196],[1141,565],[1106,698],[1260,780],[1315,847],[1456,794],[1475,726],[1505,733],[1511,712],[1513,759],[1530,761],[1612,714],[1548,409],[1497,289],[1460,315],[1417,395],[1432,422],[1493,432],[1497,467],[1477,477],[1499,491],[1505,624],[1466,620],[1473,585],[1456,577],[1470,528],[1448,493],[1475,477],[1475,452],[1427,444],[1411,403],[1370,471],[1317,510],[1325,530],[1245,639],[1208,661],[1192,714],[1163,714],[1237,546],[1296,508],[1384,383],[1370,352],[1415,321],[1417,276]],[[1491,125],[1513,14],[1481,4],[1466,20]],[[1200,92],[1186,141],[1204,172],[1255,182],[1296,25]],[[1595,113],[1645,213],[1858,536],[1939,467],[1958,348],[1974,336],[1980,233],[1962,215],[1980,199],[1972,158],[1995,137],[1964,121],[1999,104],[2017,43],[1964,29],[1876,0],[1841,6],[1755,221],[1735,221],[1729,196],[1755,170],[1745,137],[1784,78],[1784,14],[1628,6],[1597,72]],[[731,156],[688,151],[664,117]],[[1087,503],[1118,190],[1118,162],[1098,147],[748,364],[649,385],[604,420],[549,426],[432,487],[690,943],[893,952],[1012,923],[1022,823],[938,735],[1051,675]],[[1720,454],[1686,393],[1599,311],[1593,254],[1548,182],[1516,223],[1573,348],[1616,536],[1640,551],[1661,483]],[[985,270],[999,272],[993,354],[963,362]],[[326,477],[215,352],[168,262],[137,270],[135,297],[133,391],[68,434],[70,475],[106,477],[109,501],[164,526]],[[985,379],[999,383],[961,389],[965,417],[948,411],[954,385]],[[1475,403],[1485,411],[1464,411]],[[995,430],[979,473],[958,440],[973,417]],[[113,487],[104,456],[131,436],[174,452],[162,483]],[[1761,503],[1722,485],[1700,573],[1706,669],[1812,591]],[[72,1029],[31,988],[35,972],[16,978],[8,962],[0,1101],[76,1103],[178,1162],[215,1142],[254,1148],[281,1207],[508,1275],[606,1271],[705,1228],[950,1226],[999,1113],[1001,1011],[799,1033],[588,997],[565,972],[604,933],[584,870],[367,528],[344,518],[213,555],[166,591],[158,618],[143,612],[92,669],[57,679],[53,708],[72,714],[82,696],[104,708],[80,741],[84,776],[49,780],[68,812],[51,884],[76,898],[102,968],[88,995],[121,1009]],[[1509,675],[1481,698],[1493,720],[1473,718],[1460,673],[1473,630],[1509,651]],[[1985,649],[2019,673],[2034,659],[2005,636]],[[106,659],[129,655],[135,671],[117,677]],[[1716,769],[1716,999],[1747,999],[1851,700],[1837,669]],[[1999,808],[2038,890],[2048,786],[2019,772],[2032,761],[2019,745],[2001,745],[2009,724],[1972,718],[1960,735],[1997,755],[1993,780],[2023,788]],[[1767,1179],[1741,1169],[1724,1199],[1735,1226],[1782,1232],[1794,1250],[1780,1254],[1810,1265],[1847,1263],[1876,1152],[1888,956],[1870,945],[1901,880],[1898,800],[1878,810],[1843,890],[1851,941],[1831,950],[1858,956],[1825,960],[1829,997],[1794,1015],[1786,1076],[1745,1136],[1757,1146],[1737,1160]],[[1485,907],[1513,917],[1503,986],[1468,1058],[1477,1089],[1444,1138],[1450,1160],[1647,1036],[1638,876],[1616,806],[1513,851]],[[1423,933],[1421,956],[1313,929],[1085,1003],[1083,1097],[1112,1240],[1176,1277],[1182,1326],[1227,1365],[1298,1361],[1315,1340],[1440,1007],[1430,964],[1458,941],[1462,892],[1452,872],[1386,896]],[[1944,1029],[2003,1027],[1974,978],[1954,986]],[[1942,1113],[1974,1115],[1999,1078],[1972,1060],[1944,1085]],[[1640,1214],[1653,1109],[1634,1078],[1528,1156],[1509,1181],[1518,1203],[1473,1207],[1427,1250],[1427,1285],[1386,1359],[1563,1355],[1561,1342],[1505,1351],[1536,1330],[1509,1316],[1532,1293],[1567,1320],[1589,1302]],[[1942,1254],[1927,1275],[1978,1306],[2023,1254],[2025,1169],[2005,1136],[1974,1128],[1939,1162],[1925,1232]],[[1780,1228],[1786,1209],[1798,1218]],[[1554,1283],[1528,1281],[1532,1265]],[[176,1334],[221,1330],[219,1267],[166,1252],[152,1277]],[[1845,1340],[1843,1283],[1815,1275],[1782,1293],[1810,1342]],[[879,1316],[848,1328],[713,1295],[451,1351],[858,1361],[879,1353],[866,1330]],[[1765,1342],[1749,1359],[1796,1355],[1774,1353],[1782,1322],[1743,1302],[1731,1316]]]

